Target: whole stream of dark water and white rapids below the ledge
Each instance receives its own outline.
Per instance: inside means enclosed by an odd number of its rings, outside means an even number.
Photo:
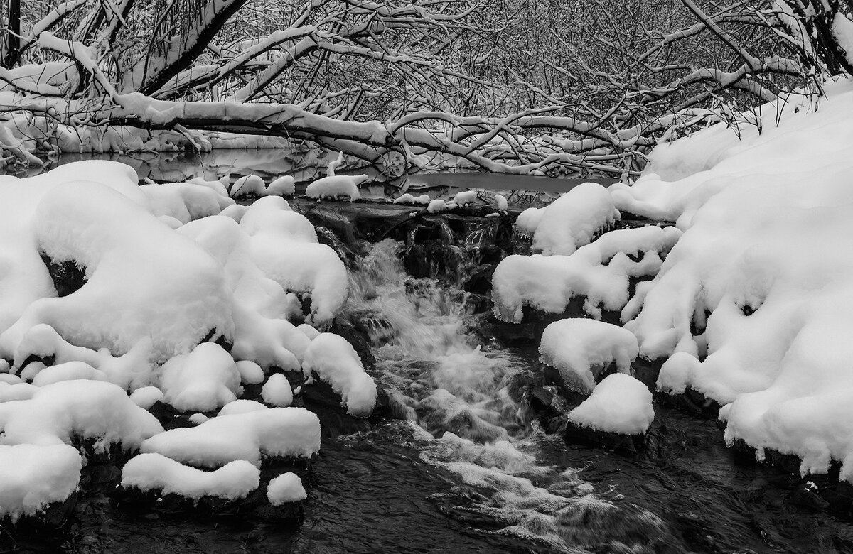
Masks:
[[[525,401],[531,386],[552,385],[535,349],[481,332],[488,291],[472,283],[494,262],[493,221],[429,216],[422,223],[443,230],[422,239],[377,223],[405,215],[396,208],[293,205],[326,212],[310,216],[328,222],[321,234],[352,272],[341,319],[370,343],[371,372],[392,399],[389,417],[370,421],[305,401],[322,414],[323,442],[296,469],[303,520],[131,513],[110,502],[115,466],[92,464],[67,529],[3,531],[0,552],[853,552],[850,522],[809,508],[789,476],[734,459],[712,418],[658,400],[635,456],[544,432]],[[368,226],[397,240],[368,243]]]

